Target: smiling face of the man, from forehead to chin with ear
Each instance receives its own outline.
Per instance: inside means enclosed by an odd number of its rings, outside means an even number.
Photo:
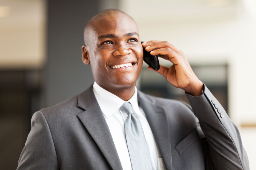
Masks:
[[[91,64],[94,79],[102,88],[134,87],[143,64],[137,24],[125,14],[112,14],[93,22],[83,61]],[[87,58],[86,58],[87,57]]]

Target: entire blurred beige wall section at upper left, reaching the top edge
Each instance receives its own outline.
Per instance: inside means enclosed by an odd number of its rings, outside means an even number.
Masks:
[[[2,0],[0,68],[41,68],[45,62],[45,1]]]

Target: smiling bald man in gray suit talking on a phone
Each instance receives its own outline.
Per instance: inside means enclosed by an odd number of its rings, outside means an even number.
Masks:
[[[18,169],[249,169],[238,129],[183,52],[167,41],[141,44],[136,22],[115,9],[91,18],[84,39],[94,85],[33,115]],[[194,114],[137,90],[142,47],[173,63],[157,72],[186,92]]]

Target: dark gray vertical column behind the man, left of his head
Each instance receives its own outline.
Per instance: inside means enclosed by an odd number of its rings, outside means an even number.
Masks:
[[[99,0],[49,0],[45,105],[52,106],[85,90],[94,82],[82,62],[86,22],[100,11]]]

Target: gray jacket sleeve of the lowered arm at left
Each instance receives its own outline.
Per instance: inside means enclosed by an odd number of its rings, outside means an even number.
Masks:
[[[18,160],[20,169],[59,169],[52,135],[40,111],[32,116],[31,131]]]

